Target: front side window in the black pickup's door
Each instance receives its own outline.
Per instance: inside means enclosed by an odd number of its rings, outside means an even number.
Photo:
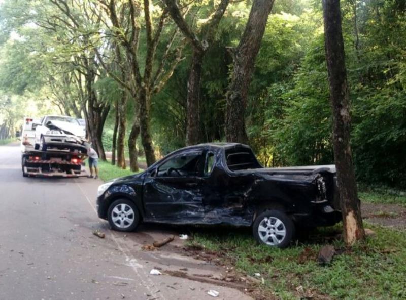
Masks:
[[[165,161],[158,168],[158,177],[198,176],[201,152],[182,153]]]

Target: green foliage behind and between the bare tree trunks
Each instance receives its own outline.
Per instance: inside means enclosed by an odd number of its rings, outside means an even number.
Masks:
[[[83,114],[86,103],[81,55],[97,47],[116,75],[114,45],[103,22],[84,14],[93,2],[72,5],[78,22],[66,18],[51,3],[4,0],[0,9],[0,90],[13,105],[31,112]],[[123,2],[124,3],[124,2]],[[217,2],[181,1],[190,5],[186,16],[198,32]],[[96,5],[94,3],[94,5]],[[225,94],[232,52],[238,45],[251,2],[229,4],[213,45],[202,65],[200,127],[202,142],[224,140]],[[404,1],[343,0],[343,33],[352,101],[352,148],[358,180],[367,184],[406,186],[406,14]],[[99,8],[98,6],[96,6]],[[95,8],[96,8],[95,7]],[[152,12],[156,21],[160,5]],[[102,11],[102,15],[104,11]],[[124,13],[127,11],[124,9]],[[140,17],[142,19],[142,17]],[[140,22],[141,19],[137,19]],[[47,21],[57,24],[48,28]],[[124,22],[125,23],[125,22]],[[68,24],[70,24],[68,26]],[[140,24],[144,24],[141,22]],[[155,70],[175,24],[168,19],[157,45]],[[103,34],[100,34],[103,33]],[[140,70],[146,54],[141,26]],[[123,65],[126,57],[121,54]],[[174,54],[171,54],[174,55]],[[186,95],[191,49],[151,104],[154,145],[166,154],[185,145]],[[95,60],[97,62],[97,60]],[[167,66],[165,65],[164,68]],[[115,80],[98,66],[94,89],[100,101],[114,104],[122,97]],[[75,78],[82,79],[77,83]],[[18,95],[18,96],[16,96]],[[20,97],[15,98],[15,97]],[[18,102],[18,104],[17,104]],[[35,102],[35,104],[32,104]],[[11,104],[10,104],[11,105]],[[32,107],[37,107],[37,110]],[[74,107],[80,109],[75,111]],[[1,109],[1,108],[0,108]],[[7,108],[8,113],[13,109]],[[6,109],[0,118],[6,119]],[[127,136],[135,110],[127,106]],[[14,110],[12,127],[27,112]],[[111,149],[115,109],[110,110],[103,141]],[[283,0],[269,16],[256,59],[247,103],[250,143],[266,166],[333,163],[331,109],[324,57],[321,2]],[[7,125],[9,128],[9,124]],[[14,129],[15,130],[15,129]],[[10,131],[10,130],[9,130]],[[140,148],[141,145],[140,145]]]

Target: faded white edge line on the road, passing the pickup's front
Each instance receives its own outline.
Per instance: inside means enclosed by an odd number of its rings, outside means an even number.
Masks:
[[[96,207],[93,206],[92,202],[90,201],[89,197],[87,197],[85,191],[82,189],[82,187],[80,186],[80,184],[75,180],[75,183],[78,185],[80,191],[82,192],[83,196],[86,198],[87,202],[89,203],[89,205],[93,208],[94,212],[97,215],[97,210]],[[134,256],[132,256],[131,254],[127,254],[130,252],[130,250],[128,249],[128,247],[125,244],[120,244],[120,242],[117,240],[117,236],[114,234],[113,231],[109,231],[110,237],[112,238],[112,240],[116,243],[117,248],[121,251],[121,253],[125,256],[125,260],[126,262],[130,262],[129,265],[132,268],[132,270],[134,271],[134,273],[136,273],[136,275],[138,276],[138,278],[140,279],[140,281],[143,283],[143,286],[148,290],[149,294],[152,297],[157,297],[157,294],[159,293],[159,298],[166,300],[165,296],[162,294],[162,292],[160,290],[158,291],[153,291],[151,289],[151,287],[155,286],[155,284],[152,282],[152,280],[150,278],[148,278],[147,273],[143,272],[144,274],[140,274],[138,272],[138,267],[136,264],[131,264],[131,262],[137,262],[137,259],[134,258]],[[126,250],[124,249],[126,248]],[[149,282],[146,282],[145,279],[147,279]]]

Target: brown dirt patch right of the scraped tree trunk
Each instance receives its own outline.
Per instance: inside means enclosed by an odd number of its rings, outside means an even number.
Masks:
[[[406,229],[406,208],[397,204],[361,203],[362,218],[369,223]]]

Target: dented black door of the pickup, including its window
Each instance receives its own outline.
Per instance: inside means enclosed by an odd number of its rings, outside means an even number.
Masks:
[[[146,219],[185,223],[204,218],[203,167],[203,152],[196,150],[175,153],[157,165],[144,181]]]

